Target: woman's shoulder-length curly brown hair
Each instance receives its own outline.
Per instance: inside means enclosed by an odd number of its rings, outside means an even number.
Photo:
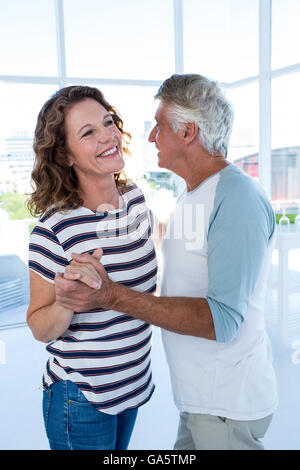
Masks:
[[[123,151],[129,154],[131,136],[123,130],[123,121],[97,88],[69,86],[57,91],[42,107],[34,134],[33,149],[36,155],[31,173],[34,191],[27,203],[30,213],[36,217],[51,207],[58,211],[76,209],[83,205],[79,196],[79,184],[74,169],[66,157],[65,112],[75,103],[92,98],[112,116],[122,133]],[[123,171],[114,175],[119,190],[124,190],[128,179]]]

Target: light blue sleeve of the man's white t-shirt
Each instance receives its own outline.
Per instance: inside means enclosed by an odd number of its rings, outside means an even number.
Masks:
[[[243,175],[218,183],[208,230],[209,304],[219,342],[237,333],[275,230],[261,188]]]

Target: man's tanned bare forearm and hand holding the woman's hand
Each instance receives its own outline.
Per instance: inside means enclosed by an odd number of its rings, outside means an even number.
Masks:
[[[97,307],[127,313],[175,333],[215,340],[214,322],[204,298],[155,297],[114,283],[99,261],[88,254],[74,255],[75,261],[90,263],[102,279],[100,289],[72,280],[72,264],[66,277],[56,280],[56,300],[65,308],[82,311]],[[78,274],[78,271],[76,271]]]

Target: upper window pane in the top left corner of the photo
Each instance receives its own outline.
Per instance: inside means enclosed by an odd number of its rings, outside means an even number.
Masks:
[[[57,75],[52,0],[0,0],[0,74]]]

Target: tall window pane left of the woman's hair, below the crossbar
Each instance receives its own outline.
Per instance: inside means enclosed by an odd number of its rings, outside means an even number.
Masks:
[[[0,82],[0,326],[25,322],[29,230],[34,224],[25,193],[30,192],[37,115],[54,91]]]

